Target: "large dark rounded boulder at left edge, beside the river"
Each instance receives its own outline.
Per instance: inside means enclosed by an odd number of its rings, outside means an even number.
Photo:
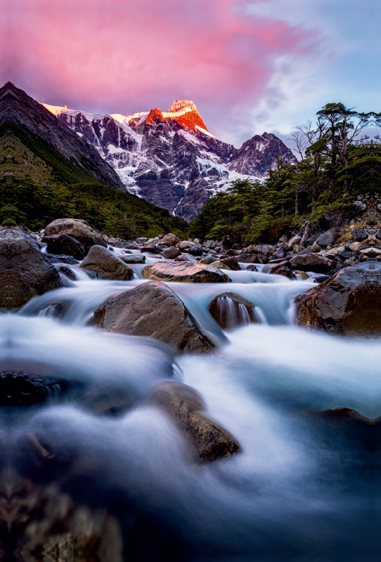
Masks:
[[[60,287],[60,274],[38,244],[18,228],[1,227],[0,308],[11,311]]]

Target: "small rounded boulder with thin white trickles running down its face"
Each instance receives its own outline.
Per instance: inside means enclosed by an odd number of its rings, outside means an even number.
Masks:
[[[233,292],[221,293],[209,304],[209,313],[222,329],[257,322],[254,304]]]

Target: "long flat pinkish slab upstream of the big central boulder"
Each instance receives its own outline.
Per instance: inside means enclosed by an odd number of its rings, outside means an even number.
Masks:
[[[191,261],[150,263],[142,270],[145,279],[183,283],[229,283],[230,277],[213,266]]]

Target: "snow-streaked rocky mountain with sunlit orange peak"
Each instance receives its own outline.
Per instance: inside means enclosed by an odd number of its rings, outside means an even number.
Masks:
[[[155,107],[129,117],[44,107],[98,150],[127,191],[186,221],[230,181],[264,178],[278,157],[296,162],[271,133],[255,135],[238,149],[219,141],[191,100],[175,100],[167,112]]]

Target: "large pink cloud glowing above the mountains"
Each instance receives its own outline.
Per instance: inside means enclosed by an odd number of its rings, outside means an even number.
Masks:
[[[0,78],[46,103],[97,112],[193,99],[215,130],[261,96],[278,55],[311,48],[302,27],[238,8],[234,0],[13,0],[3,12]]]

